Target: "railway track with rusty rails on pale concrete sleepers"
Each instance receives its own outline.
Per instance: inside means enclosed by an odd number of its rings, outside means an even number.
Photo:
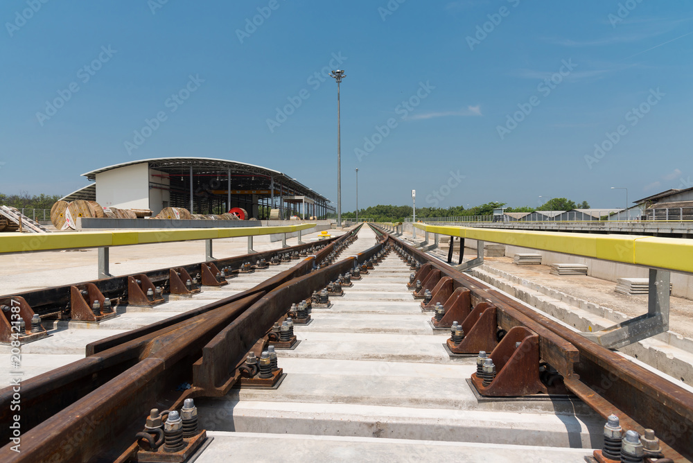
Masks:
[[[216,268],[234,272],[249,259],[217,261]],[[183,461],[193,446],[199,462],[225,461],[229,453],[262,460],[273,446],[289,445],[283,460],[334,459],[342,449],[342,457],[361,460],[439,460],[452,452],[583,461],[602,447],[612,413],[624,432],[656,430],[665,457],[684,462],[693,455],[692,394],[376,227],[358,227],[285,264],[211,304],[89,342],[86,358],[22,381],[28,413],[19,421],[21,453],[12,451],[12,430],[3,427],[10,444],[0,449],[2,461]],[[196,277],[201,265],[183,270]],[[321,294],[339,289],[331,282],[355,268],[364,274],[353,272],[343,296]],[[93,284],[104,297],[125,300],[148,279],[167,295],[177,290],[172,272],[183,273],[164,269]],[[69,324],[74,301],[66,293],[62,287],[21,297],[44,323]],[[444,304],[439,330],[429,310],[436,302]],[[283,324],[287,315],[296,339]],[[448,340],[451,317],[464,329]],[[278,366],[268,370],[263,352],[270,345]],[[486,383],[485,370],[475,374],[481,350],[495,368]],[[12,421],[13,394],[12,387],[0,391],[3,423]],[[198,425],[184,441],[188,448],[167,452],[173,441],[157,447],[163,436],[148,412],[180,411],[189,428],[188,399]],[[149,434],[138,435],[146,425]]]

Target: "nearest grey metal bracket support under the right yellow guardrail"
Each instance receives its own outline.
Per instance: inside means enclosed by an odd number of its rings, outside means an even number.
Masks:
[[[671,274],[666,270],[649,269],[647,313],[595,333],[582,333],[607,349],[629,344],[665,333],[669,330],[669,292]]]

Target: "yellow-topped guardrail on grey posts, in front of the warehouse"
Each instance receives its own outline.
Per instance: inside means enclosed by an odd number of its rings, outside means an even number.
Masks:
[[[286,234],[315,227],[315,223],[283,225],[280,227],[243,227],[209,229],[158,229],[122,231],[82,231],[80,233],[58,232],[49,234],[4,233],[0,235],[0,254],[24,252],[76,250],[98,248],[98,277],[110,277],[109,248],[114,246],[174,243],[176,241],[205,241],[205,260],[213,260],[212,241],[220,238],[248,237],[248,254],[253,254],[253,236],[283,234],[282,247],[286,245]]]

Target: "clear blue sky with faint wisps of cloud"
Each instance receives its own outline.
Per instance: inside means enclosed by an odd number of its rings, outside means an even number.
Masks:
[[[357,167],[360,207],[693,186],[690,1],[6,0],[0,19],[3,193],[200,156],[336,200],[329,67],[347,73],[344,211]]]

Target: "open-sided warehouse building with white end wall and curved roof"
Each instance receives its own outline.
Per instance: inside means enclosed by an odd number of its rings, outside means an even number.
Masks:
[[[64,198],[93,200],[102,207],[151,209],[184,207],[191,213],[245,209],[247,218],[325,218],[330,200],[295,178],[269,168],[227,159],[167,157],[107,166],[82,174],[94,182]]]

